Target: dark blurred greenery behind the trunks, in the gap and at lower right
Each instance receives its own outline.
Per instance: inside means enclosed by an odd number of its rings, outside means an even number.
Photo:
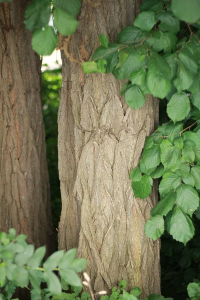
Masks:
[[[57,162],[57,110],[60,88],[61,69],[46,70],[42,73],[43,119],[54,228],[58,227],[61,211]],[[168,121],[164,99],[160,101],[159,119],[160,124]],[[195,215],[193,218],[195,236],[185,247],[169,234],[161,238],[161,294],[165,297],[173,297],[174,300],[185,300],[187,284],[193,279],[200,280],[200,221]]]

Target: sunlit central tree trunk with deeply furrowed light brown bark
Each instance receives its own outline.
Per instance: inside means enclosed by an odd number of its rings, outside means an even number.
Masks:
[[[157,189],[135,198],[129,179],[144,140],[158,121],[158,101],[147,96],[131,110],[119,97],[113,75],[83,75],[78,62],[88,60],[98,35],[114,41],[131,25],[138,0],[82,1],[77,31],[62,51],[62,89],[58,111],[58,167],[62,197],[59,248],[77,247],[88,260],[95,291],[126,279],[142,296],[160,292],[159,240],[144,235],[144,223],[157,201]],[[72,54],[71,54],[72,55]]]

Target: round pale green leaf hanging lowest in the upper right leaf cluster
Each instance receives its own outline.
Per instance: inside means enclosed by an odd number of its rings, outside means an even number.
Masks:
[[[167,104],[166,112],[168,117],[171,118],[174,123],[184,119],[190,110],[190,102],[185,92],[176,92],[173,94]]]

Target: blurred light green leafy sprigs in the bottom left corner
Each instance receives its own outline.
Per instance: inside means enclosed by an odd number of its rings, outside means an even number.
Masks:
[[[61,292],[61,282],[55,271],[59,273],[61,281],[81,288],[81,281],[76,272],[80,272],[86,265],[83,258],[75,258],[76,249],[67,252],[59,250],[51,254],[40,266],[44,255],[45,246],[34,251],[32,244],[25,242],[26,235],[15,235],[13,228],[9,233],[0,233],[0,287],[4,289],[1,300],[10,299],[17,286],[32,286],[32,299],[43,293],[49,295]],[[47,288],[40,289],[40,283],[46,282]]]

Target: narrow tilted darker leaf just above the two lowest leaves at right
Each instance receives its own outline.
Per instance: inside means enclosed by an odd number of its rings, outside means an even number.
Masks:
[[[173,207],[175,203],[176,194],[174,191],[171,191],[168,195],[165,195],[159,202],[151,209],[150,214],[152,216],[166,215]]]

